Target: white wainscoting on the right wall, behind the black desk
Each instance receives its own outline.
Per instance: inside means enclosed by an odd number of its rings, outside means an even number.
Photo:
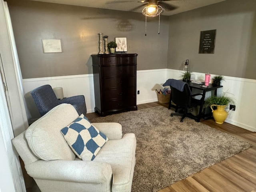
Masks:
[[[167,69],[167,78],[180,79],[182,71]],[[203,73],[193,72],[196,79],[204,79]],[[215,74],[211,74],[211,77]],[[236,100],[236,110],[228,112],[225,122],[256,132],[256,80],[224,76],[223,88],[219,92],[228,92]],[[206,94],[206,97],[209,93]]]

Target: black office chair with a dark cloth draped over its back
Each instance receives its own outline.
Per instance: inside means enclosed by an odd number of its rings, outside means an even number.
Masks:
[[[182,118],[180,119],[180,122],[183,122],[183,119],[185,117],[189,117],[194,120],[197,120],[198,118],[196,116],[193,116],[192,114],[188,113],[188,108],[201,105],[201,103],[204,102],[202,99],[198,100],[192,97],[198,96],[198,95],[202,96],[202,94],[192,94],[188,84],[180,80],[171,79],[168,81],[168,83],[166,82],[165,84],[163,84],[163,86],[167,86],[167,84],[171,88],[169,106],[173,102],[174,104],[176,104],[175,112],[177,112],[179,108],[182,108],[183,110],[183,113],[171,113],[170,116],[171,117],[174,115],[182,116]]]

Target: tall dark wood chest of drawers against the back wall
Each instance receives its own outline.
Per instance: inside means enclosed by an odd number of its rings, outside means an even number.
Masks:
[[[95,112],[106,116],[137,110],[137,54],[92,55]]]

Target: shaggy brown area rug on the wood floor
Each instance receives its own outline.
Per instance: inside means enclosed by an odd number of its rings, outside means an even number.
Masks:
[[[118,122],[137,140],[132,192],[156,192],[252,145],[163,106],[94,118]]]

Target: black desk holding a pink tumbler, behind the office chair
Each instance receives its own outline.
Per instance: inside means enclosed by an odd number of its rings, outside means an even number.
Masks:
[[[190,81],[188,81],[187,83],[188,83],[188,86],[190,87],[191,91],[192,91],[192,89],[198,89],[198,90],[202,91],[202,98],[203,98],[203,100],[205,98],[206,92],[214,90],[214,95],[216,96],[217,95],[217,89],[223,87],[222,85],[220,85],[220,86],[213,86],[212,84],[209,84],[208,87],[204,88],[204,87],[201,87],[200,84],[192,83]],[[170,106],[172,106],[171,103],[169,104],[169,109],[170,109]],[[200,109],[199,109],[199,113],[198,113],[198,117],[197,117],[196,122],[200,122],[200,118],[204,117],[204,115],[202,114],[203,106],[204,106],[204,102],[202,102],[201,105],[200,105]],[[174,106],[172,106],[172,107],[174,107]]]

